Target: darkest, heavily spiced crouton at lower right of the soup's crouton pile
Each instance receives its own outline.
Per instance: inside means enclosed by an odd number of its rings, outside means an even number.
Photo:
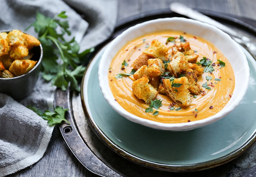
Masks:
[[[193,95],[200,95],[202,93],[200,86],[197,84],[197,76],[194,73],[194,71],[189,68],[186,75],[186,78],[188,78],[188,82],[189,82],[189,91],[191,94]]]

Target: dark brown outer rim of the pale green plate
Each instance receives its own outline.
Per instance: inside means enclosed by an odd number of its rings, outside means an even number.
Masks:
[[[106,44],[107,45],[107,44]],[[250,137],[245,141],[239,148],[235,149],[234,151],[226,154],[225,156],[205,161],[205,162],[200,162],[200,163],[195,163],[195,164],[188,164],[188,165],[170,165],[170,164],[164,164],[164,163],[158,163],[158,162],[152,162],[149,160],[142,159],[136,155],[133,155],[132,153],[128,152],[126,149],[121,148],[117,144],[115,144],[101,129],[97,124],[94,124],[95,121],[90,115],[90,111],[88,111],[85,103],[85,95],[84,95],[84,82],[85,78],[88,74],[88,71],[92,69],[94,66],[93,64],[97,63],[99,60],[99,55],[102,55],[106,45],[104,45],[93,57],[91,62],[89,63],[87,70],[84,74],[84,77],[82,79],[81,83],[81,101],[82,101],[82,107],[84,110],[84,113],[86,114],[86,119],[88,120],[88,123],[90,127],[92,128],[93,132],[98,136],[98,138],[105,144],[107,145],[110,149],[112,149],[114,152],[116,152],[118,155],[124,157],[125,159],[134,162],[136,164],[153,168],[155,170],[163,170],[163,171],[168,171],[168,172],[194,172],[194,171],[201,171],[201,170],[206,170],[209,168],[213,168],[222,164],[225,164],[238,156],[240,156],[245,150],[247,150],[249,147],[251,147],[255,142],[256,142],[256,130],[254,131],[253,134],[250,135]],[[253,60],[252,56],[245,50],[243,49],[246,58],[248,60]],[[97,60],[98,59],[98,60]],[[253,60],[254,61],[254,60]],[[99,62],[98,62],[99,64]]]

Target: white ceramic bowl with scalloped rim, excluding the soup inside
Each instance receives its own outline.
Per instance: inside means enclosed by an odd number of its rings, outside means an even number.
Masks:
[[[161,30],[180,30],[196,36],[203,37],[204,39],[213,43],[228,58],[235,74],[235,88],[230,101],[220,112],[201,120],[196,120],[188,123],[168,124],[154,122],[152,120],[144,119],[133,115],[126,111],[123,107],[121,107],[117,101],[115,101],[115,98],[110,90],[108,83],[109,81],[107,78],[108,69],[112,59],[115,57],[116,53],[132,39],[135,39],[146,33]],[[117,36],[106,47],[99,65],[100,88],[104,98],[110,104],[110,106],[120,115],[124,116],[132,122],[160,130],[186,131],[216,122],[217,120],[223,118],[225,115],[230,113],[239,105],[246,93],[248,81],[248,62],[240,45],[234,42],[228,34],[222,32],[221,30],[217,29],[212,25],[180,17],[150,20],[130,27],[119,36]]]

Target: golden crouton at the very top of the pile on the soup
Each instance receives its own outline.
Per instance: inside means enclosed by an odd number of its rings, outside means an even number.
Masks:
[[[157,40],[153,40],[151,45],[145,49],[143,53],[148,55],[150,58],[159,58],[163,61],[168,60],[168,49],[164,44]]]

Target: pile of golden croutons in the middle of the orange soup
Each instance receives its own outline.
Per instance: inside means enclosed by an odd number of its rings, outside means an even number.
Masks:
[[[170,52],[168,52],[170,51]],[[197,63],[198,54],[189,42],[174,45],[169,50],[163,43],[153,40],[151,45],[132,63],[136,70],[132,92],[150,104],[157,94],[168,95],[176,104],[187,107],[192,95],[202,93],[197,76],[203,67]]]

